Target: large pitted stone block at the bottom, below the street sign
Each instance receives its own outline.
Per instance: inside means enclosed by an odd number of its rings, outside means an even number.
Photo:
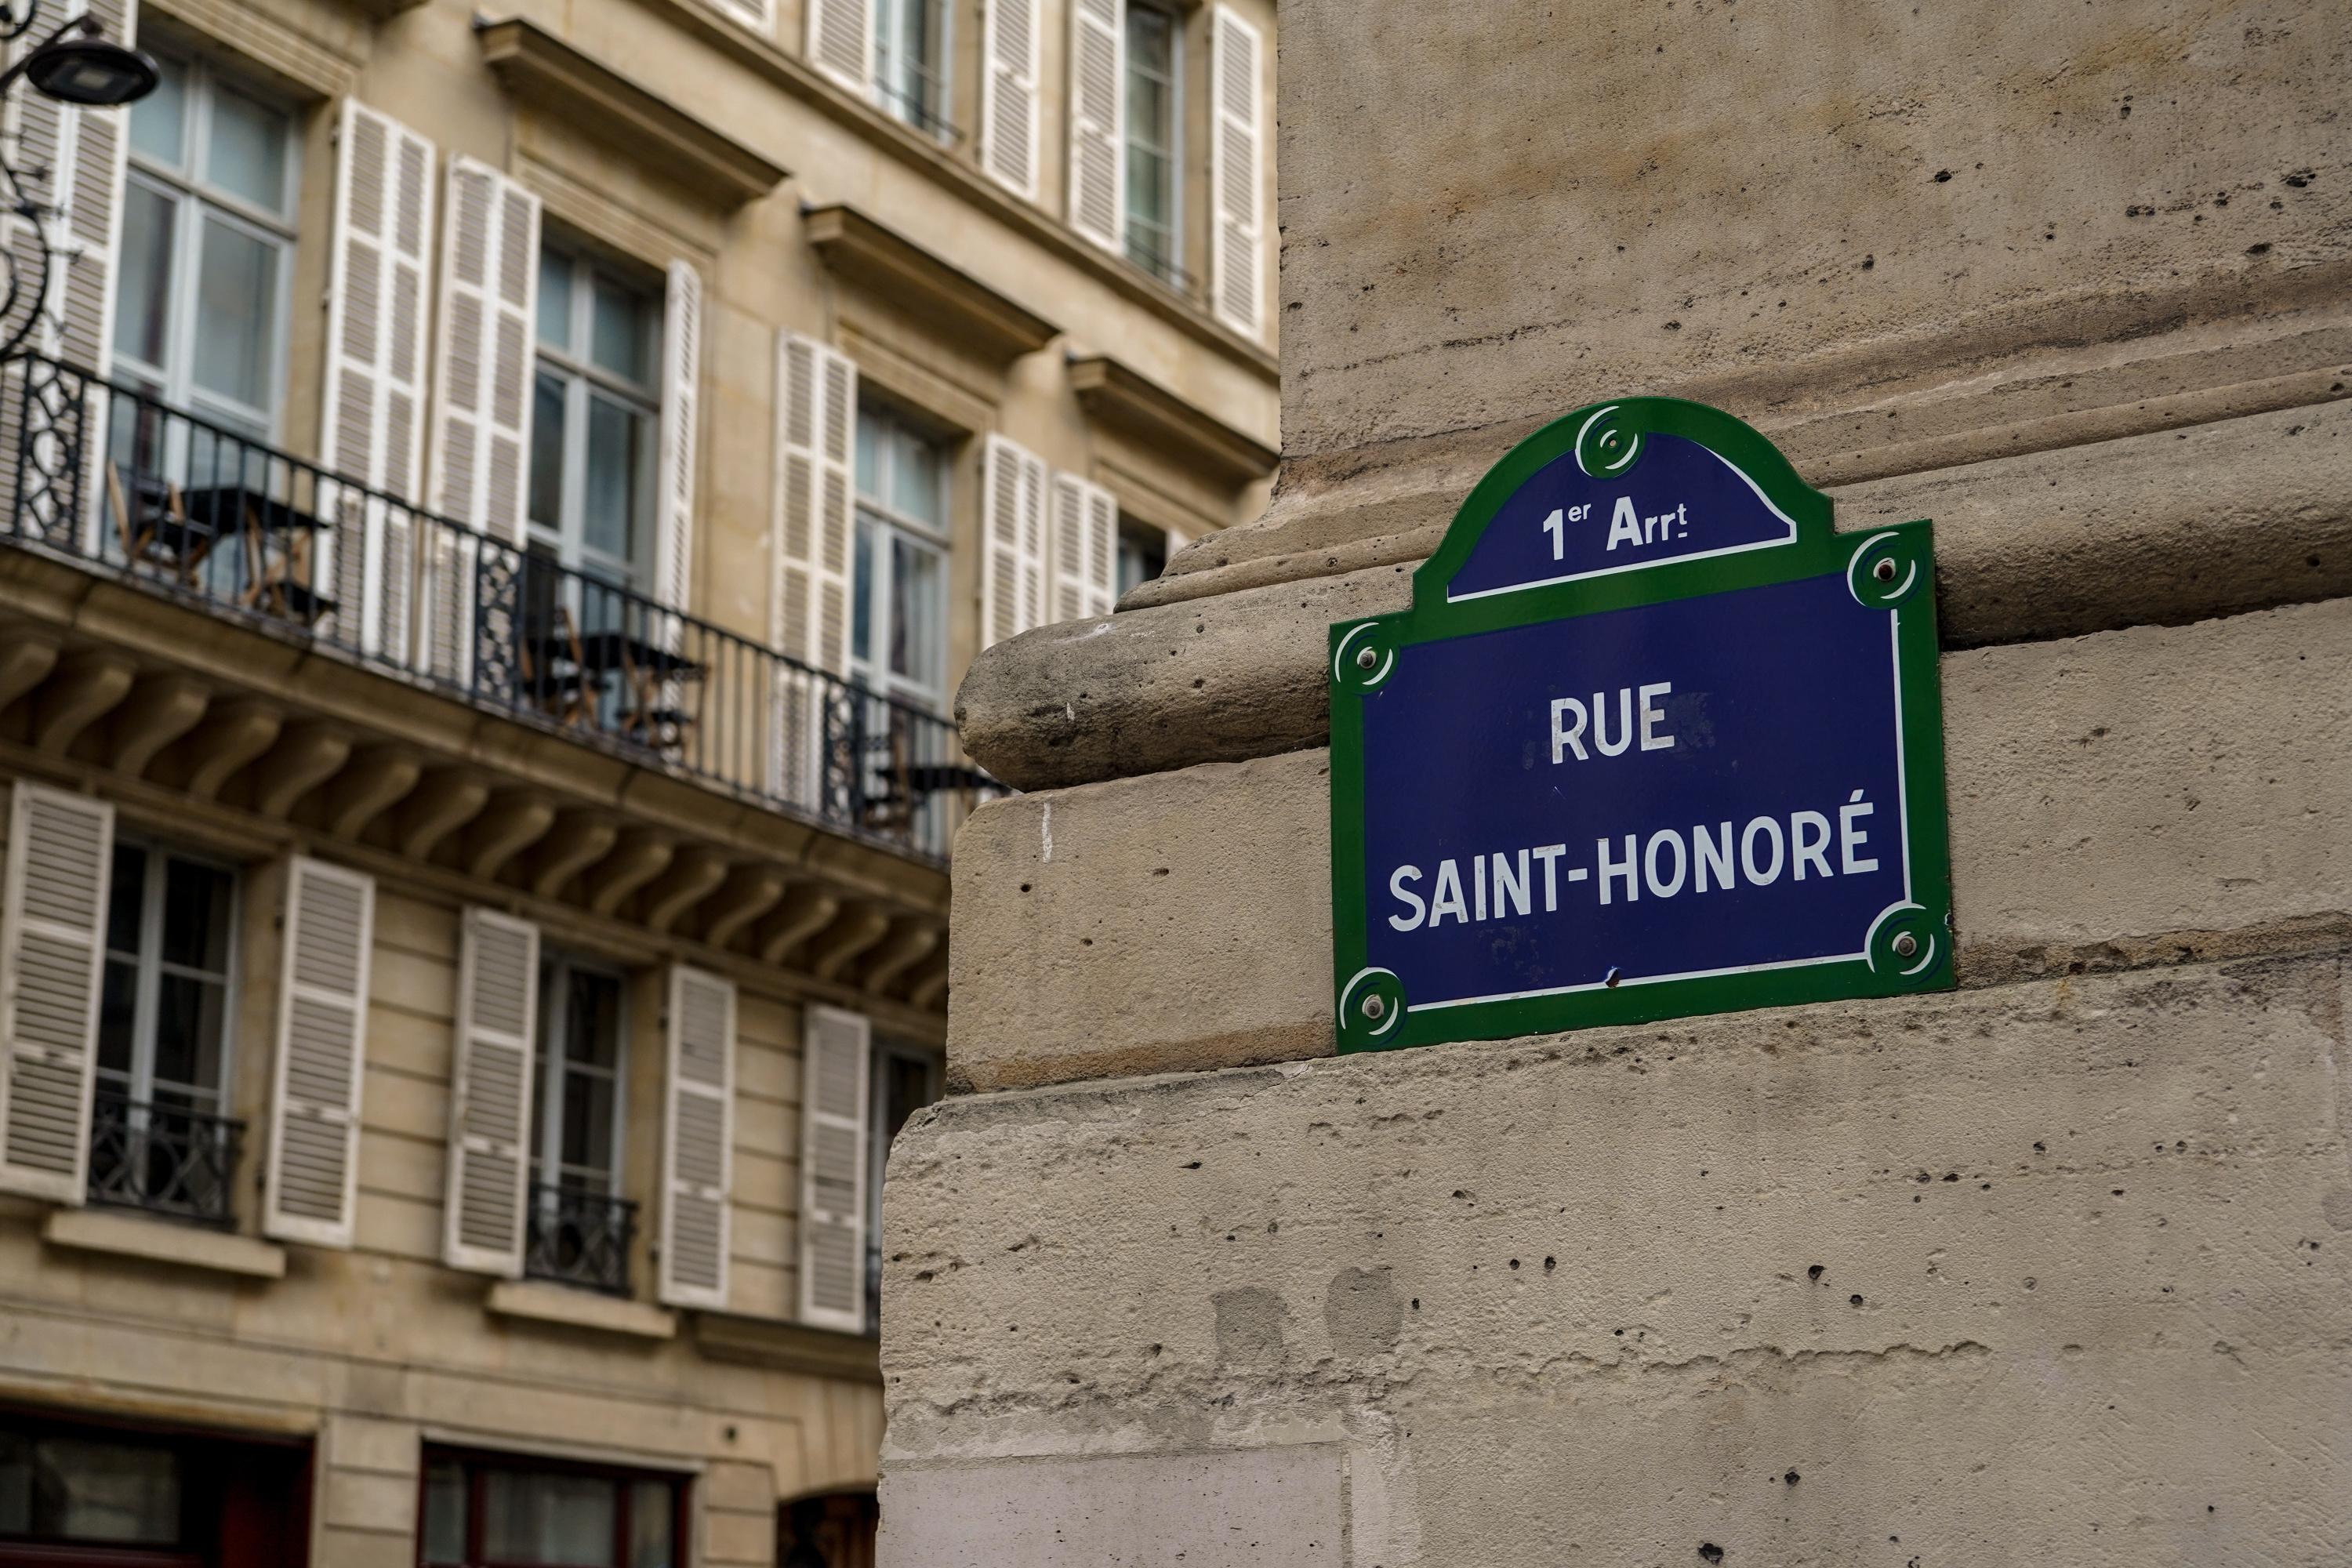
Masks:
[[[884,1512],[1343,1443],[1352,1563],[2317,1568],[2343,1051],[2314,954],[950,1098],[891,1150]]]

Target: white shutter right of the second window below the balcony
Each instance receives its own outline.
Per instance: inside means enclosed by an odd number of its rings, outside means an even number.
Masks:
[[[673,1307],[727,1305],[734,1168],[734,983],[670,969],[668,1105],[661,1119],[661,1288]]]

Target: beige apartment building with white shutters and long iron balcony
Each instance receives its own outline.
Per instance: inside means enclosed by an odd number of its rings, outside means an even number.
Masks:
[[[868,1563],[955,684],[1265,503],[1272,5],[89,9],[158,89],[5,125],[0,1563]]]

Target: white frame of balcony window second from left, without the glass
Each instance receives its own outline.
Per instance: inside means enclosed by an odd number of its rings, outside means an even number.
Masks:
[[[532,317],[532,386],[527,395],[536,402],[539,376],[550,371],[564,383],[564,475],[562,475],[562,498],[557,503],[560,517],[555,527],[546,527],[536,515],[532,515],[532,482],[529,465],[536,451],[524,451],[524,538],[534,548],[546,548],[553,559],[564,571],[576,571],[590,576],[600,583],[612,583],[626,588],[628,592],[647,595],[652,592],[654,578],[654,534],[659,531],[661,512],[661,348],[663,331],[668,327],[661,292],[652,284],[630,277],[626,268],[616,268],[600,261],[595,254],[562,244],[553,237],[539,242],[539,256],[532,266],[543,266],[546,256],[560,256],[572,270],[572,343],[590,346],[595,331],[595,284],[602,277],[609,287],[626,289],[640,308],[640,320],[652,324],[652,334],[644,343],[647,369],[654,371],[654,381],[626,381],[614,371],[595,364],[590,360],[590,348],[555,348],[539,336],[539,320]],[[644,451],[637,461],[637,484],[644,487],[640,527],[630,538],[630,559],[621,562],[602,550],[588,548],[588,402],[602,393],[604,397],[628,404],[644,423],[640,425],[644,435],[640,437]],[[532,421],[532,442],[536,447],[539,421]]]

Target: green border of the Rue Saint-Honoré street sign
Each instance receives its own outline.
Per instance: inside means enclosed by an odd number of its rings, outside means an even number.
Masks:
[[[1543,583],[1446,602],[1446,583],[1470,559],[1503,503],[1545,463],[1576,454],[1595,477],[1642,461],[1644,435],[1682,435],[1731,463],[1797,522],[1792,543],[1658,562],[1606,576]],[[1889,562],[1889,567],[1882,567]],[[1912,903],[1865,936],[1865,957],[1806,966],[1630,980],[1550,997],[1411,1011],[1402,983],[1367,959],[1364,896],[1364,696],[1416,644],[1566,621],[1637,604],[1665,604],[1733,588],[1764,588],[1844,571],[1853,597],[1896,609],[1896,682],[1903,705],[1903,792]],[[1926,520],[1870,534],[1835,534],[1830,498],[1797,477],[1780,449],[1743,421],[1679,397],[1621,397],[1552,421],[1486,470],[1414,571],[1414,607],[1331,625],[1331,959],[1341,1051],[1392,1051],[1454,1039],[1510,1039],[1611,1023],[1653,1023],[1849,997],[1952,990],[1952,856],[1943,795],[1943,686],[1936,646],[1936,541]],[[1367,651],[1371,654],[1367,658]],[[1907,938],[1910,952],[1903,952]]]

